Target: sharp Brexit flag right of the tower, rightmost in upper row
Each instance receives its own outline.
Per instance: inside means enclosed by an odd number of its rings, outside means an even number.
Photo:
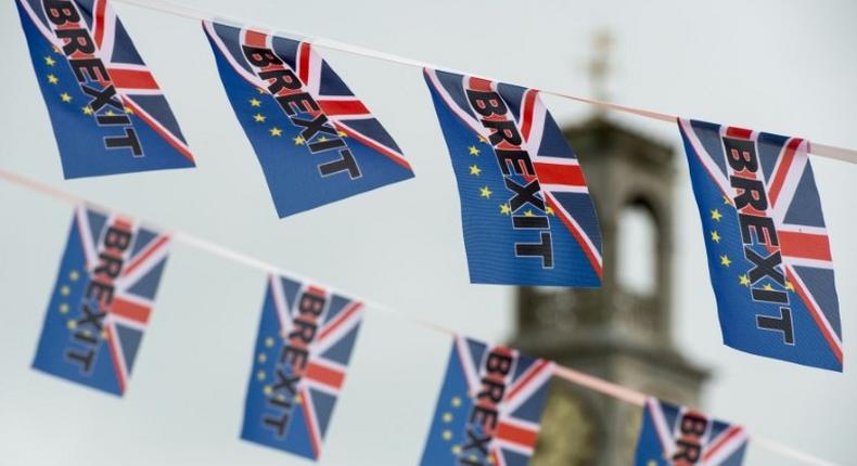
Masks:
[[[808,141],[679,120],[726,345],[842,371],[830,240]]]

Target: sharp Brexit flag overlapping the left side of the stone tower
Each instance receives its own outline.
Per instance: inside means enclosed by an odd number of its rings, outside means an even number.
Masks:
[[[592,199],[538,91],[424,74],[458,179],[471,282],[600,286]]]

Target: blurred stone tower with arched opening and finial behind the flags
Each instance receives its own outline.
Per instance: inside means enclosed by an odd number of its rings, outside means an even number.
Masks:
[[[603,73],[603,57],[592,66]],[[512,345],[660,398],[699,405],[707,374],[688,362],[671,338],[673,150],[600,114],[564,133],[598,211],[603,284],[597,289],[520,288]],[[637,406],[554,381],[532,464],[630,465],[640,413]]]

